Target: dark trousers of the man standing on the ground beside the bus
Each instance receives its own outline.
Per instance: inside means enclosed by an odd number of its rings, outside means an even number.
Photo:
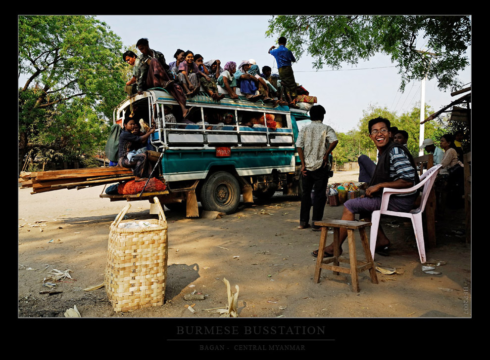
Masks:
[[[313,171],[306,170],[306,176],[303,175],[303,193],[301,195],[301,209],[299,210],[299,225],[305,226],[309,224],[312,201],[312,222],[321,221],[323,219],[325,203],[327,202],[326,191],[328,185],[328,173],[328,166],[322,166]],[[313,193],[313,199],[311,197],[311,190],[315,191]]]

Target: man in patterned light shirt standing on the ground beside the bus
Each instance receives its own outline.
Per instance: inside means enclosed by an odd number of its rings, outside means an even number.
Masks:
[[[330,172],[328,157],[338,144],[332,127],[323,123],[325,108],[315,105],[310,109],[311,123],[299,130],[296,149],[301,160],[302,195],[298,229],[310,227],[311,191],[314,190],[312,222],[321,221],[327,202]],[[320,231],[320,227],[312,226]]]

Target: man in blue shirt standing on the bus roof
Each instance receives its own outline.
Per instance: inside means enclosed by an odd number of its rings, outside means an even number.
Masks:
[[[284,94],[288,99],[290,107],[296,107],[294,99],[296,98],[296,80],[294,80],[294,72],[292,63],[296,62],[293,52],[286,47],[286,38],[280,37],[277,42],[279,47],[271,46],[269,54],[276,58],[277,68],[279,72],[279,79],[281,80],[281,86],[284,89]]]

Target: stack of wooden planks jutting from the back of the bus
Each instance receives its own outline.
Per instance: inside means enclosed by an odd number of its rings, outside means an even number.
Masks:
[[[80,189],[133,179],[134,175],[131,169],[111,166],[21,172],[19,182],[22,184],[22,188],[32,188],[31,194],[36,194],[59,189]]]

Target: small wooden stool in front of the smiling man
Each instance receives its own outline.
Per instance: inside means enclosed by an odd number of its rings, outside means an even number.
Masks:
[[[320,281],[320,272],[322,269],[332,270],[335,275],[339,275],[339,272],[350,274],[352,280],[352,291],[359,292],[359,283],[357,281],[357,274],[368,270],[371,276],[371,282],[377,284],[378,277],[376,276],[376,270],[374,269],[374,262],[369,249],[369,243],[367,240],[366,226],[370,226],[371,223],[362,221],[347,221],[347,220],[329,220],[329,221],[316,221],[316,226],[321,226],[322,234],[320,236],[320,245],[318,246],[318,257],[316,260],[315,277],[316,283]],[[328,228],[334,228],[334,256],[330,259],[323,260],[323,251],[327,242]],[[339,258],[339,240],[340,240],[340,228],[347,229],[347,239],[349,240],[349,257]],[[355,254],[355,242],[354,242],[354,230],[359,229],[361,235],[361,243],[364,248],[364,254],[367,261],[358,261]],[[329,263],[333,265],[327,265]],[[339,263],[350,263],[350,268],[344,268],[339,266]]]

